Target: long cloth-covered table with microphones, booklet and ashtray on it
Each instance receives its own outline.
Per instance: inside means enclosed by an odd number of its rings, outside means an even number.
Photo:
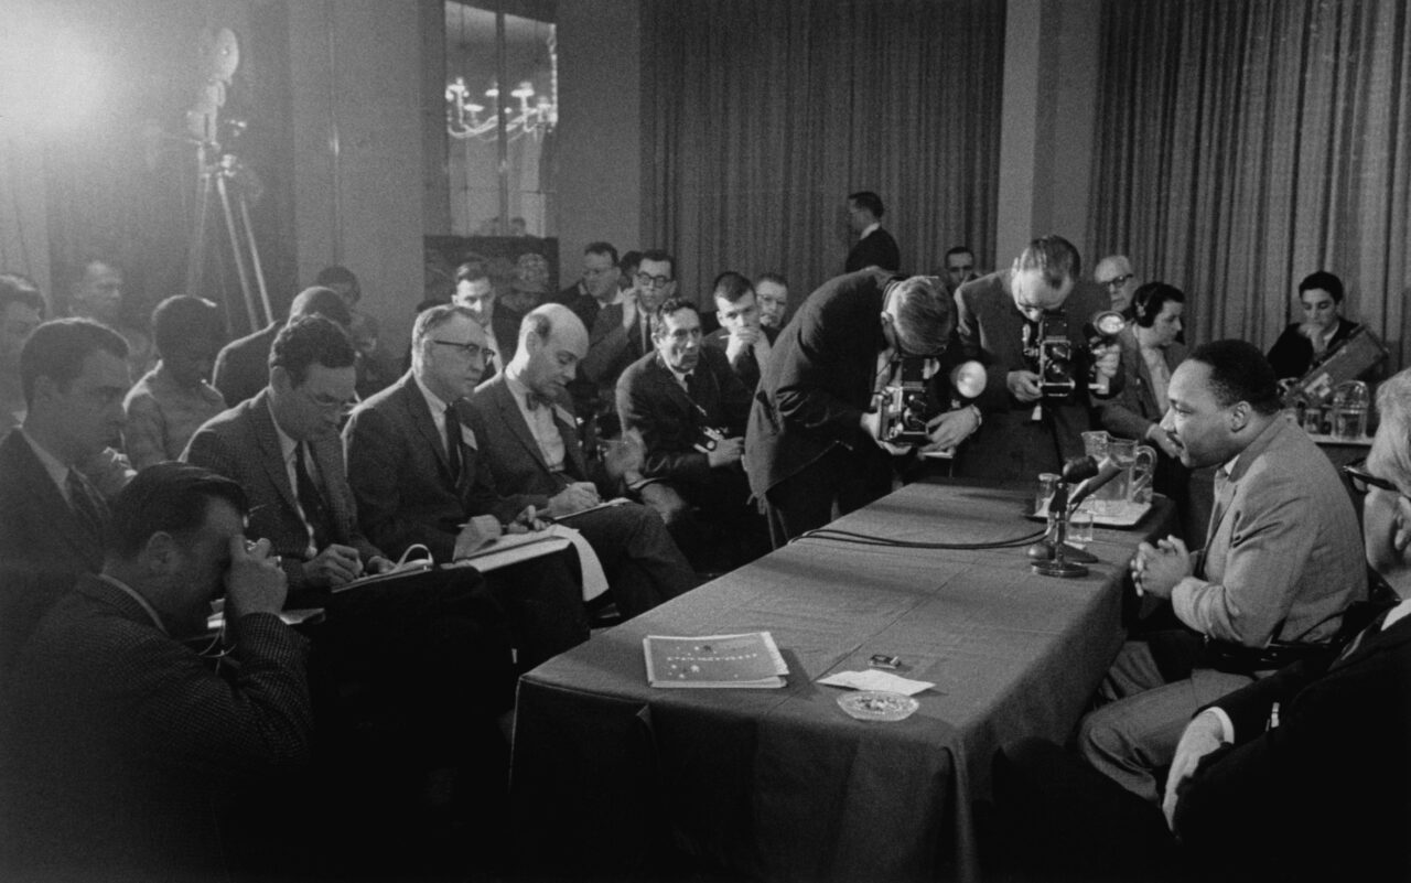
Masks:
[[[974,543],[1041,528],[1027,488],[913,484],[832,526]],[[729,877],[978,877],[971,801],[995,749],[1062,741],[1122,642],[1122,581],[1137,540],[1098,529],[1088,577],[1030,573],[1023,549],[899,550],[809,539],[631,619],[523,676],[511,807],[521,869],[648,873],[670,845]],[[780,690],[660,690],[646,635],[769,631]],[[900,722],[862,722],[814,681],[899,656],[935,683]]]

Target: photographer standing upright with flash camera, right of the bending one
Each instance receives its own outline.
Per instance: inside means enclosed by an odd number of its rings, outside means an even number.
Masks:
[[[1109,309],[1106,292],[1079,281],[1078,250],[1058,236],[1037,238],[1013,267],[959,288],[958,331],[965,358],[988,371],[978,399],[985,423],[957,453],[955,473],[1033,481],[1084,453],[1091,405],[1122,389],[1118,347],[1088,347],[1084,326]],[[1062,329],[1072,350],[1070,391],[1046,389],[1038,375],[1044,333]],[[1099,381],[1089,389],[1089,378]],[[1101,381],[1108,379],[1106,392]]]

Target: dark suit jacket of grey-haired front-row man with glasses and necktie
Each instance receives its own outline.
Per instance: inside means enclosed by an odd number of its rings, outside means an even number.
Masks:
[[[343,429],[363,529],[392,556],[422,543],[437,561],[450,561],[459,525],[470,516],[491,513],[508,522],[531,505],[525,497],[499,497],[480,463],[470,405],[461,399],[454,412],[463,426],[459,484],[426,396],[409,372],[358,405]]]

